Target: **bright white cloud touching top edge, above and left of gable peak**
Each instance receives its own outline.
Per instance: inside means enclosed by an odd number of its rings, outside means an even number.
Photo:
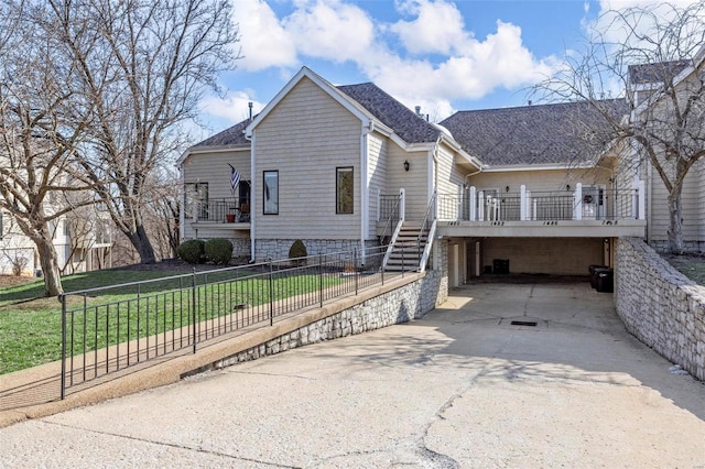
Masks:
[[[238,66],[249,72],[296,64],[294,41],[264,0],[234,2],[232,21],[240,32],[242,59]]]

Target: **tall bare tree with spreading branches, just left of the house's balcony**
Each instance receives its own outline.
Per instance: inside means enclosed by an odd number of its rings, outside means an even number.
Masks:
[[[96,109],[84,168],[142,263],[155,261],[145,228],[150,177],[186,143],[180,124],[234,67],[238,40],[225,0],[51,0],[54,25]]]

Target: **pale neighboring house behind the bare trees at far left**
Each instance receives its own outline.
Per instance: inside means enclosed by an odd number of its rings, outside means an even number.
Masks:
[[[62,274],[112,266],[110,220],[66,215],[50,222],[52,243]],[[0,274],[41,275],[34,242],[0,210]]]

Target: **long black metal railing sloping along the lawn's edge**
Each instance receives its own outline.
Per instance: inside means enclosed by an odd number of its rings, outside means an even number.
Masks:
[[[238,330],[383,284],[387,247],[227,268],[65,293],[61,396]],[[404,266],[405,271],[417,265]]]

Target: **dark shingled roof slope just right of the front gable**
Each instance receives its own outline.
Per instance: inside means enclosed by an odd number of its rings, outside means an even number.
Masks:
[[[435,142],[441,130],[372,83],[337,87],[406,143]]]

